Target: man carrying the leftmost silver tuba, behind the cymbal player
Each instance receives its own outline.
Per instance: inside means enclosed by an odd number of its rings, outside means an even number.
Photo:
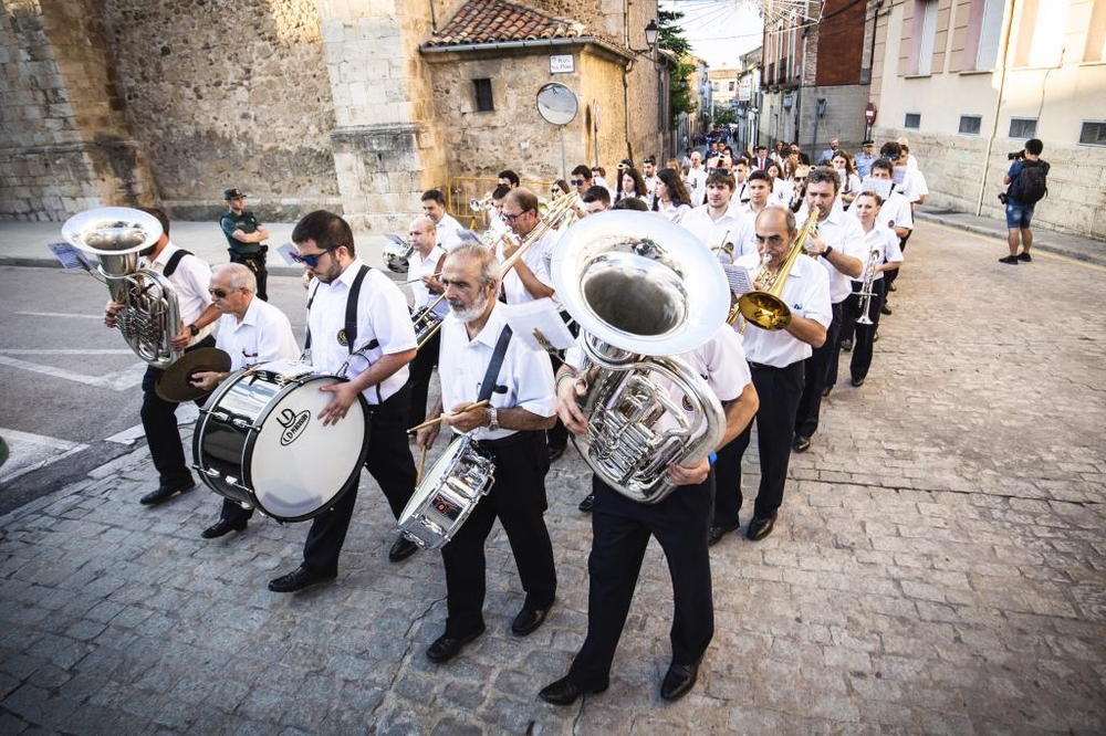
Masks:
[[[188,251],[169,242],[169,218],[159,209],[140,208],[161,225],[161,236],[148,253],[143,253],[139,267],[155,271],[166,278],[177,294],[180,325],[170,339],[177,350],[194,350],[215,345],[211,323],[219,318],[219,309],[211,304],[207,287],[211,281],[211,267]],[[124,305],[108,302],[104,309],[104,324],[115,327],[116,318]],[[142,425],[146,432],[146,444],[157,469],[157,488],[138,500],[144,506],[160,504],[196,485],[192,473],[185,463],[185,450],[180,444],[177,429],[176,401],[166,401],[157,395],[155,386],[165,370],[147,366],[142,379]]]

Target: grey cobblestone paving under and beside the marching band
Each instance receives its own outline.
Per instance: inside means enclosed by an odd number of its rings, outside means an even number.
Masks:
[[[434,665],[440,559],[387,561],[372,481],[338,579],[279,596],[265,583],[305,526],[206,542],[219,498],[139,506],[156,482],[139,448],[0,517],[0,733],[1102,734],[1106,278],[1002,252],[919,229],[873,372],[854,389],[843,364],[776,532],[712,548],[717,633],[678,703],[658,694],[671,602],[655,544],[611,688],[536,697],[584,635],[576,458],[547,479],[545,625],[509,632],[522,595],[497,527],[488,632]],[[755,488],[755,455],[747,470]]]

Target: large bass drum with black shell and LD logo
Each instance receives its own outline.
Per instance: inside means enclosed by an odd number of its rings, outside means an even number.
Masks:
[[[220,496],[278,522],[326,511],[361,472],[368,452],[367,403],[361,396],[337,424],[316,419],[340,383],[296,360],[274,360],[225,380],[200,410],[192,459]]]

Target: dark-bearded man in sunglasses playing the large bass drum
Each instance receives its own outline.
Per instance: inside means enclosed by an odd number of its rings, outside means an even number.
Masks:
[[[407,443],[410,387],[407,364],[415,357],[415,328],[407,298],[390,278],[357,256],[349,224],[325,210],[311,212],[292,230],[294,259],[312,276],[307,292],[305,350],[317,372],[338,375],[347,366],[348,381],[320,390],[332,396],[315,419],[337,424],[359,393],[368,403],[365,418],[368,455],[365,467],[379,484],[398,519],[415,493],[415,459]],[[356,298],[354,298],[356,296]],[[359,473],[331,508],[316,516],[299,568],[269,582],[273,592],[293,592],[337,577],[357,500]],[[399,561],[417,550],[400,536],[388,559]]]

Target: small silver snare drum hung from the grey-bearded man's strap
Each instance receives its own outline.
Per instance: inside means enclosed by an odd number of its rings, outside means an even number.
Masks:
[[[446,448],[399,517],[399,530],[424,549],[444,547],[491,490],[495,464],[468,437]]]

